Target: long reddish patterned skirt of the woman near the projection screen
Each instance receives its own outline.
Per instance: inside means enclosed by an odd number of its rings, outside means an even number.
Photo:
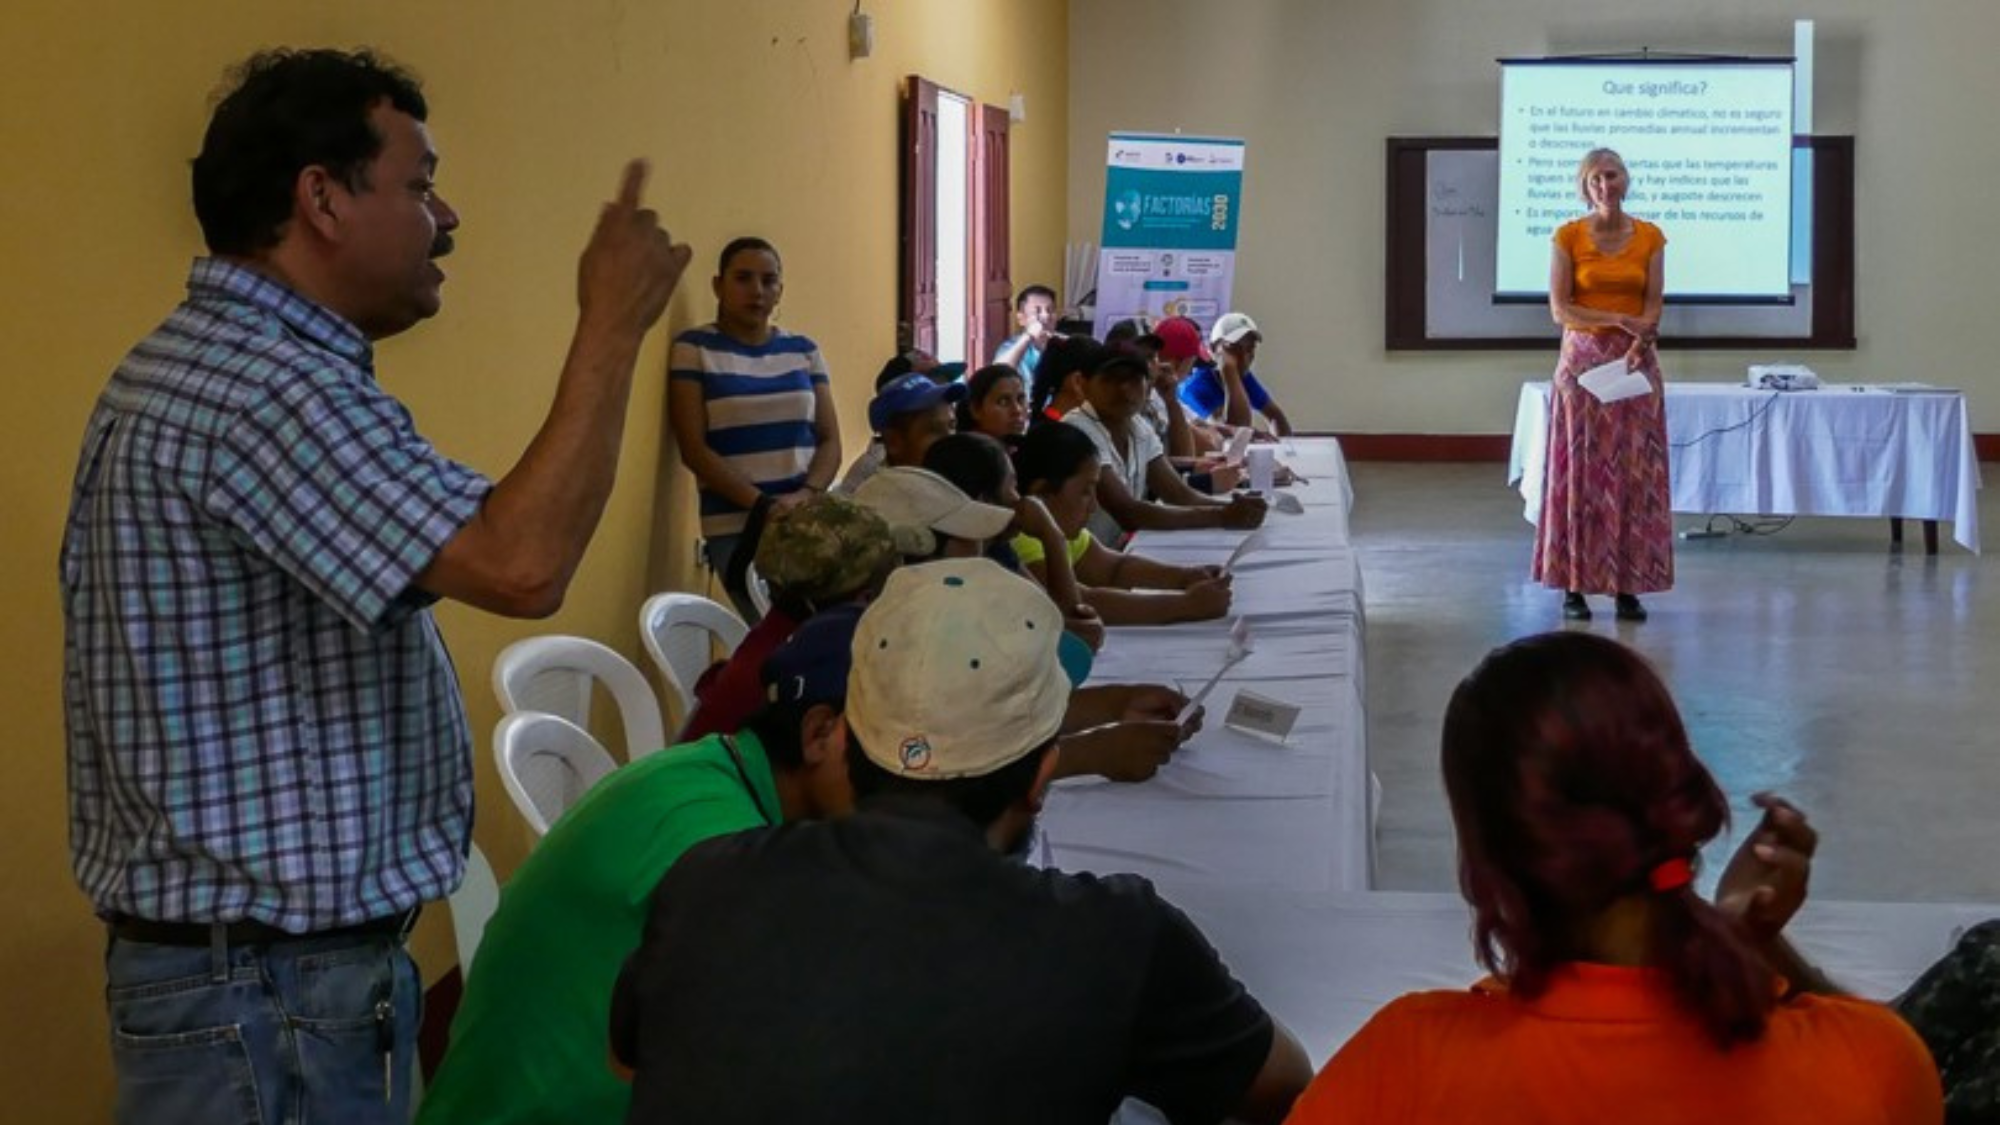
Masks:
[[[1666,398],[1660,358],[1638,370],[1652,394],[1598,402],[1576,376],[1618,358],[1624,332],[1564,332],[1548,412],[1548,472],[1534,534],[1534,581],[1586,595],[1648,595],[1674,587],[1668,506]]]

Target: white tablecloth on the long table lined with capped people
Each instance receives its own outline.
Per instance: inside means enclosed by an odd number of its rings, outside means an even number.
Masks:
[[[1280,458],[1308,484],[1304,514],[1272,512],[1264,548],[1236,567],[1230,619],[1252,653],[1208,697],[1208,721],[1152,781],[1060,783],[1042,813],[1050,859],[1070,871],[1292,891],[1364,889],[1374,869],[1372,779],[1362,715],[1362,589],[1348,546],[1352,484],[1340,444],[1296,438]],[[1134,550],[1176,565],[1224,562],[1250,532],[1140,534]],[[1110,629],[1092,683],[1178,683],[1222,665],[1228,621]],[[1302,709],[1284,745],[1230,731],[1236,691]]]

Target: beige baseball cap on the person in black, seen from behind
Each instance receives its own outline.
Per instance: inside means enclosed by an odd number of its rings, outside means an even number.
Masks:
[[[890,575],[854,631],[848,725],[898,777],[986,777],[1062,729],[1062,615],[990,558]]]

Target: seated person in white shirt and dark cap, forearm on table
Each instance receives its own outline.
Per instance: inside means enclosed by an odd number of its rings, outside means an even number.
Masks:
[[[1174,470],[1158,434],[1138,418],[1146,378],[1144,354],[1100,344],[1084,362],[1084,404],[1062,418],[1090,436],[1102,460],[1090,530],[1122,544],[1130,530],[1262,524],[1262,496],[1204,496]]]

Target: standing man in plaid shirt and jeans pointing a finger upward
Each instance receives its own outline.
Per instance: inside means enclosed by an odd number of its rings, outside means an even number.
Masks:
[[[194,160],[212,256],[84,430],[62,542],[70,851],[110,927],[120,1121],[406,1121],[416,909],[472,829],[430,605],[562,603],[688,248],[626,168],[548,420],[498,482],[372,346],[440,306],[458,214],[416,80],[268,52]]]

